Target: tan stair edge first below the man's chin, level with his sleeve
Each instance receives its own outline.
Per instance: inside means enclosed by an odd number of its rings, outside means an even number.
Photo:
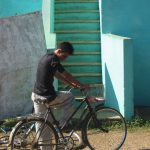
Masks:
[[[100,62],[64,62],[63,66],[101,66]]]

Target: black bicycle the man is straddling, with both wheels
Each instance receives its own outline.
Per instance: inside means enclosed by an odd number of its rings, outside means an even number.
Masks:
[[[64,133],[64,127],[82,106],[84,109],[78,122],[71,127],[69,133]],[[53,123],[47,120],[48,115],[52,116]],[[76,134],[79,130],[81,137]],[[44,137],[45,133],[49,137]],[[59,126],[50,106],[47,107],[44,117],[33,114],[21,118],[10,134],[9,148],[41,150],[41,147],[49,147],[48,150],[73,150],[88,147],[91,150],[118,150],[126,135],[127,126],[121,113],[114,108],[105,107],[104,99],[86,94],[63,127]]]

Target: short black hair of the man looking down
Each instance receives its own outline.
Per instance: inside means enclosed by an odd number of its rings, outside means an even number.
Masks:
[[[73,55],[74,48],[69,42],[60,43],[58,48],[61,49],[62,52],[67,52],[68,54]]]

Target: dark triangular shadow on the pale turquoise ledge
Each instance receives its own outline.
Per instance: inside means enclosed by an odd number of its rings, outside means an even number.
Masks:
[[[118,100],[114,91],[114,87],[107,69],[107,66],[105,64],[105,99],[106,99],[106,106],[115,108],[119,110],[119,104]]]

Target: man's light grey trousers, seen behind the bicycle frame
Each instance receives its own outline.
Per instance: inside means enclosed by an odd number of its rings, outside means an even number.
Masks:
[[[32,93],[32,100],[34,103],[34,109],[35,113],[41,113],[44,114],[47,110],[46,106],[44,104],[37,103],[35,100],[42,98],[41,96],[38,96],[34,93]],[[58,92],[57,97],[50,102],[49,104],[52,107],[57,107],[63,110],[63,113],[61,113],[61,119],[60,119],[60,126],[62,126],[65,121],[70,117],[72,112],[74,111],[74,96],[71,92],[61,91]],[[48,118],[49,121],[52,121],[51,117]],[[39,125],[36,126],[36,128],[39,128]],[[45,132],[46,133],[46,132]],[[44,134],[41,136],[42,140],[47,139],[49,137],[49,134]],[[51,147],[41,147],[41,150],[51,150]]]

